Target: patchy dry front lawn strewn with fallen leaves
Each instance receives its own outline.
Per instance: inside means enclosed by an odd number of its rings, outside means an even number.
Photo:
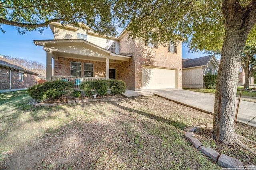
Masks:
[[[26,91],[0,94],[0,169],[221,169],[184,136],[188,126],[212,123],[212,115],[156,96],[56,107],[32,102]],[[256,128],[236,129],[256,140]],[[204,130],[198,138],[216,147]],[[216,149],[256,163],[244,158],[248,152]]]

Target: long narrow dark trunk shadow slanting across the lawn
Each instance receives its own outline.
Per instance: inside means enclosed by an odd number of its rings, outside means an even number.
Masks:
[[[130,111],[130,112],[133,112],[133,113],[138,113],[140,115],[146,116],[149,119],[154,119],[156,121],[160,121],[160,122],[166,123],[168,125],[172,125],[173,127],[176,127],[178,129],[181,129],[181,130],[184,130],[185,127],[187,127],[187,125],[185,123],[180,123],[180,122],[177,122],[177,121],[172,121],[172,120],[169,120],[169,119],[165,119],[163,117],[159,117],[157,115],[153,115],[153,114],[148,113],[146,111],[140,111],[140,110],[132,109],[130,107],[121,106],[120,104],[118,104],[116,102],[113,102],[111,104],[116,106],[116,107],[119,107],[120,109],[124,109],[124,110]]]

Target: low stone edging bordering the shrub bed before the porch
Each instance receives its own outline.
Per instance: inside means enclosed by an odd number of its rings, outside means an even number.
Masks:
[[[60,103],[35,103],[34,106],[44,106],[44,107],[53,107],[53,106],[62,106],[66,104],[75,104],[75,103],[86,103],[86,102],[117,102],[120,100],[128,100],[128,98],[100,98],[100,99],[82,99],[82,100],[70,100],[66,103],[60,102]]]

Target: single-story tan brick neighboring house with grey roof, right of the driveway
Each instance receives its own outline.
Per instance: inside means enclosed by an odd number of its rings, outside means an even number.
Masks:
[[[214,55],[182,61],[182,87],[204,88],[204,75],[217,74],[219,62]]]

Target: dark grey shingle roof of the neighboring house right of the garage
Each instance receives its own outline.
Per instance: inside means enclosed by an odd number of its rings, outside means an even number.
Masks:
[[[184,61],[182,61],[182,68],[204,66],[212,59],[212,57],[213,57],[213,55],[208,55],[208,56],[199,57],[196,59],[184,60]]]

